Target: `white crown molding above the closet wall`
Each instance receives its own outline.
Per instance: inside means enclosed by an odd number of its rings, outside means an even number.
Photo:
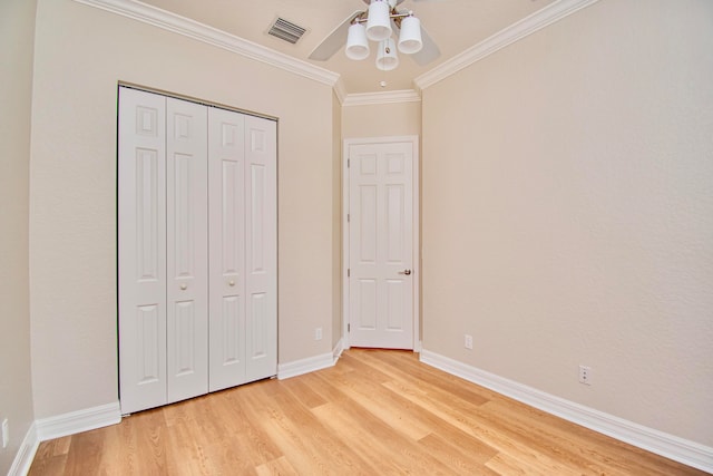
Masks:
[[[283,70],[300,75],[329,86],[334,86],[339,79],[336,72],[320,68],[306,61],[302,61],[265,48],[261,45],[247,41],[234,35],[226,33],[207,25],[199,23],[178,14],[170,13],[156,7],[141,3],[136,0],[75,0],[89,7],[95,7],[111,13],[138,20],[154,27],[162,28],[174,33],[194,40],[203,41],[234,54],[244,56],[256,61],[262,61],[275,66]]]

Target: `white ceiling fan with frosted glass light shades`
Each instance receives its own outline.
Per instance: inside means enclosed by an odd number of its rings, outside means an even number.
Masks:
[[[402,28],[404,31],[407,29],[411,30],[412,26],[409,25],[410,20],[407,20],[407,19],[413,18],[416,20],[416,18],[413,17],[413,12],[409,10],[398,9],[398,6],[401,4],[403,0],[363,0],[363,2],[369,6],[369,9],[356,10],[352,14],[346,17],[346,19],[344,19],[342,23],[340,23],[334,30],[332,30],[332,32],[328,35],[326,38],[324,38],[324,40],[322,40],[322,42],[316,46],[316,48],[314,48],[314,50],[310,54],[310,59],[314,59],[318,61],[326,61],[332,56],[334,56],[334,54],[339,51],[339,49],[344,43],[348,43],[348,57],[350,57],[351,59],[362,59],[362,58],[365,58],[365,56],[369,56],[368,45],[364,45],[363,47],[360,48],[360,52],[358,57],[350,55],[350,47],[352,42],[351,35],[353,35],[353,30],[359,30],[359,28],[350,29],[350,27],[353,27],[355,25],[360,25],[363,27],[363,23],[368,22],[370,12],[372,17],[374,16],[373,13],[374,8],[381,7],[382,9],[388,10],[388,17],[390,18],[388,21],[391,23],[391,30],[399,31]],[[381,3],[382,6],[372,6],[372,3]],[[410,56],[420,66],[426,66],[429,62],[437,59],[441,52],[440,52],[440,49],[438,48],[438,45],[436,45],[436,42],[431,39],[431,37],[426,31],[426,29],[420,27],[420,22],[418,22],[417,25],[418,26],[413,28],[418,28],[420,30],[420,41],[422,46],[419,46],[420,49],[417,52],[411,54]],[[355,31],[355,33],[362,35],[360,31]],[[385,31],[384,31],[384,35],[385,35]],[[391,31],[389,31],[388,35],[390,37]],[[365,37],[363,38],[363,41],[365,43]],[[387,40],[387,41],[392,42],[392,40]],[[393,46],[391,46],[391,48],[393,48]],[[387,47],[387,52],[390,52],[389,47]],[[382,55],[382,52],[380,52],[380,55]],[[379,65],[379,61],[378,61],[378,65]]]

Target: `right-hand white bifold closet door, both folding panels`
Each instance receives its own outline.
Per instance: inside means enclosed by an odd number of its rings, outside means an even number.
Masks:
[[[277,366],[275,123],[211,108],[211,391]]]

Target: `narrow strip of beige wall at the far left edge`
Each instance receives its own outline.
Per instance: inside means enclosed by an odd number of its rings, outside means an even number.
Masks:
[[[0,3],[0,421],[10,444],[0,451],[6,474],[32,424],[30,379],[30,108],[32,104],[33,0]]]

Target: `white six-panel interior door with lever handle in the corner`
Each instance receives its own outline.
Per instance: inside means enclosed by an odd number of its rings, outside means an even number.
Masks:
[[[349,344],[414,348],[414,140],[351,144]]]

